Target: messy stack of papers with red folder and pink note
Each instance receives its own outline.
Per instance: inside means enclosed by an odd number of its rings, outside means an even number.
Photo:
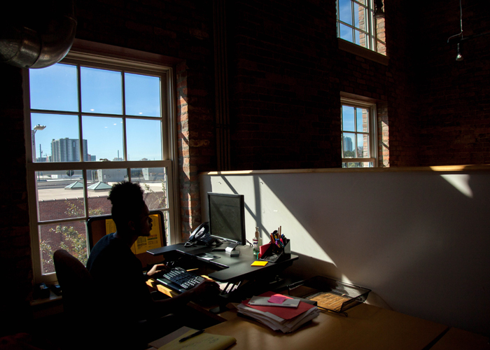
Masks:
[[[271,300],[271,297],[272,302],[269,302],[269,304],[272,304],[272,306],[258,305],[263,304],[264,299]],[[281,298],[279,299],[278,297],[279,295],[275,293],[267,292],[241,302],[241,304],[237,305],[237,309],[244,316],[251,317],[273,330],[281,330],[284,333],[297,330],[301,325],[311,321],[319,314],[318,307],[314,305],[299,302],[297,307],[291,307],[291,302],[286,302],[286,300],[292,299],[291,297],[286,295],[280,295]],[[280,301],[284,298],[287,306],[279,306],[278,304],[283,304],[284,302],[278,302],[278,300]]]

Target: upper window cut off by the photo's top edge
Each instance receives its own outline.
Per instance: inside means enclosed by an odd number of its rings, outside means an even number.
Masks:
[[[337,36],[386,55],[384,18],[374,18],[373,0],[337,0]]]

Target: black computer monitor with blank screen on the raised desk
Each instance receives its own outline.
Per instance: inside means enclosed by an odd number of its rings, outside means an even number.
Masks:
[[[209,232],[220,241],[245,244],[243,195],[208,193]]]

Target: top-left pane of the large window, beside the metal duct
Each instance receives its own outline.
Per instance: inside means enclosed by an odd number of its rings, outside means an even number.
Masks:
[[[78,111],[76,66],[53,64],[29,69],[31,109]]]

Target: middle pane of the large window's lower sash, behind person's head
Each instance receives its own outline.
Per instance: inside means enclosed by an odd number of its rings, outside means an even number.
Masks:
[[[120,171],[123,172],[122,179],[125,179],[126,170],[120,169]],[[108,170],[87,169],[88,216],[111,214],[111,202],[107,197],[112,185],[99,181],[99,174],[106,175],[107,178],[108,172]]]

